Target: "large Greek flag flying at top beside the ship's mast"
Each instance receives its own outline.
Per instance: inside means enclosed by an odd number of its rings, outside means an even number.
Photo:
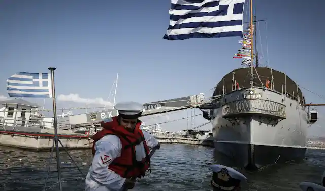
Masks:
[[[243,36],[245,0],[172,0],[164,39]]]

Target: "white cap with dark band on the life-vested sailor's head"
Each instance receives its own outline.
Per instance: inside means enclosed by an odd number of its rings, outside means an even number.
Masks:
[[[143,105],[138,102],[121,102],[116,104],[114,108],[123,118],[138,118],[144,109]]]

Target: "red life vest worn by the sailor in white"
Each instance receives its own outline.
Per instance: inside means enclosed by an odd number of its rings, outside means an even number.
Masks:
[[[141,121],[138,120],[136,127],[132,132],[127,131],[123,126],[119,125],[117,117],[113,117],[111,122],[101,122],[104,128],[96,133],[92,139],[92,154],[95,155],[95,144],[98,140],[106,135],[115,135],[119,137],[122,143],[121,156],[116,157],[109,165],[109,169],[123,178],[141,178],[145,172],[150,169],[149,147],[146,144],[144,135],[140,129]],[[142,161],[136,160],[135,146],[143,142],[146,157]],[[151,172],[151,169],[150,169]]]

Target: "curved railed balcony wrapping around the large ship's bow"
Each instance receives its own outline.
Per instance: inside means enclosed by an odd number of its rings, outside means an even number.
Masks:
[[[222,117],[260,114],[285,119],[285,105],[271,100],[236,100],[222,106]]]

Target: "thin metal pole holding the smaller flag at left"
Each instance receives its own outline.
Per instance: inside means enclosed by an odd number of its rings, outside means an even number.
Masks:
[[[59,182],[59,190],[62,191],[62,181],[61,181],[61,168],[60,168],[60,155],[59,155],[59,143],[57,136],[57,117],[56,117],[56,102],[55,102],[55,86],[54,86],[54,70],[56,68],[49,68],[51,71],[51,81],[52,81],[52,95],[53,95],[53,117],[54,117],[54,141],[56,149],[56,166],[57,166],[57,177]]]

